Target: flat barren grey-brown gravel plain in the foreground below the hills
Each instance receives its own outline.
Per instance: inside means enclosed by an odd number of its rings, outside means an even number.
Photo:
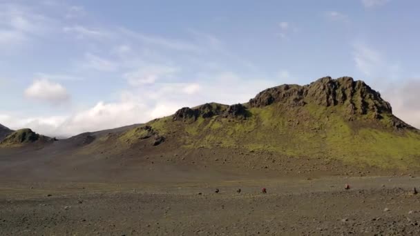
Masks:
[[[0,186],[0,235],[420,234],[415,177]]]

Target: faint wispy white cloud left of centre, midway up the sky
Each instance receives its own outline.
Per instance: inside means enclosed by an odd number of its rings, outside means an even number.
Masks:
[[[142,66],[139,69],[124,74],[124,78],[132,86],[155,83],[159,79],[166,79],[178,72],[178,68],[171,66]]]

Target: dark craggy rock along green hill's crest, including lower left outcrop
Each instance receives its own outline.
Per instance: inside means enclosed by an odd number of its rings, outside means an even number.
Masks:
[[[284,84],[268,88],[250,99],[245,106],[236,104],[226,106],[222,104],[204,104],[195,108],[182,108],[173,116],[174,121],[195,121],[199,117],[209,118],[217,115],[231,118],[246,118],[250,114],[247,108],[263,108],[271,104],[280,104],[285,108],[299,108],[307,104],[323,107],[340,106],[338,109],[348,121],[356,121],[363,115],[363,119],[379,120],[384,117],[387,126],[394,128],[412,128],[401,119],[392,115],[390,104],[381,98],[363,81],[354,81],[352,77],[332,79],[323,77],[308,85]]]

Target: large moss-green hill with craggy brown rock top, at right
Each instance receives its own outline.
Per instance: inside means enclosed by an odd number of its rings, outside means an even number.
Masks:
[[[232,148],[239,153],[275,153],[278,158],[420,168],[419,130],[392,115],[379,92],[350,77],[269,88],[247,104],[182,108],[146,126],[183,148]],[[144,131],[137,131],[127,132],[125,138],[138,140]]]

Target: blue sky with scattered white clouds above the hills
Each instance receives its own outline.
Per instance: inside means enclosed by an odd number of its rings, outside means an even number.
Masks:
[[[414,0],[0,0],[0,124],[115,128],[270,86],[363,79],[420,128]]]

